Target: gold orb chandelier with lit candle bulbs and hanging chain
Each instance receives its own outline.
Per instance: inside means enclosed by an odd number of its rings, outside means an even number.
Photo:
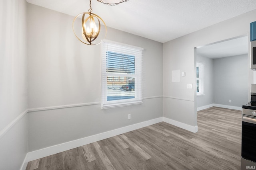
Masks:
[[[127,2],[128,0],[121,0],[120,2],[108,3],[102,0],[97,0],[102,4],[109,6],[116,6],[122,2]],[[108,0],[111,1],[111,0]],[[82,18],[82,21],[76,21],[76,19]],[[104,24],[104,25],[102,25]],[[103,29],[101,27],[104,26]],[[92,1],[90,0],[90,8],[88,12],[83,12],[78,14],[72,24],[73,32],[76,38],[84,44],[87,45],[97,45],[102,43],[107,35],[106,23],[98,15],[92,13]]]

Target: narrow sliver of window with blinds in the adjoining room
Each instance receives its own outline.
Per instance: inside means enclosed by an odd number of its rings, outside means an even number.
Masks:
[[[196,95],[204,94],[204,64],[196,63]]]

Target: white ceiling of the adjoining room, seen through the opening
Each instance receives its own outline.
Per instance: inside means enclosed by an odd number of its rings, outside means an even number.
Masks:
[[[248,36],[197,47],[196,53],[211,59],[248,54]]]

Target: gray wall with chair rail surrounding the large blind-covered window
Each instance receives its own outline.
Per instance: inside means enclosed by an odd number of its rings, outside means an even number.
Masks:
[[[28,113],[29,151],[162,117],[162,43],[108,27],[106,39],[144,48],[146,99],[141,105],[101,110],[100,45],[78,41],[73,19],[28,4],[29,108],[94,103]]]

